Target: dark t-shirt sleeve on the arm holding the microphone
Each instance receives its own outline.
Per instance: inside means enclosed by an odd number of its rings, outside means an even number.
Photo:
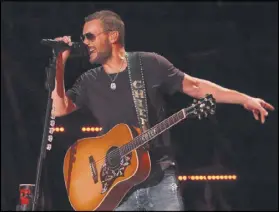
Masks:
[[[74,83],[72,88],[67,90],[66,95],[76,104],[78,108],[85,106],[86,103],[86,82],[84,74]]]

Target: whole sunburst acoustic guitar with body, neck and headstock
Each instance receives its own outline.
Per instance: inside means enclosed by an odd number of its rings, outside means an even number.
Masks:
[[[131,188],[149,176],[151,162],[144,145],[186,118],[214,114],[215,108],[215,99],[206,95],[142,133],[118,124],[105,135],[77,140],[67,150],[63,164],[73,209],[114,210]]]

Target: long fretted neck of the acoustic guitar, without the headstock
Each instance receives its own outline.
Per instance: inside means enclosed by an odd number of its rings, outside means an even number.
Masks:
[[[186,112],[190,108],[182,109],[178,111],[177,113],[173,114],[172,116],[168,117],[164,121],[156,124],[152,128],[146,130],[139,136],[135,137],[131,142],[123,145],[120,147],[120,153],[121,156],[124,156],[131,151],[139,148],[140,146],[144,145],[145,143],[149,142],[150,140],[154,139],[167,129],[171,128],[172,126],[176,125],[180,121],[184,120],[186,118]]]

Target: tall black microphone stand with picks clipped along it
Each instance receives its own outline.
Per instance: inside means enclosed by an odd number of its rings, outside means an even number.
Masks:
[[[32,201],[32,211],[37,210],[36,207],[37,207],[37,202],[38,202],[38,198],[39,198],[40,180],[41,180],[41,174],[42,174],[44,160],[46,157],[46,150],[51,150],[51,142],[53,140],[52,134],[54,131],[53,127],[55,125],[55,117],[51,113],[52,103],[53,103],[51,94],[55,87],[56,60],[57,60],[58,53],[59,53],[58,49],[54,48],[52,60],[50,60],[50,65],[49,65],[49,67],[46,67],[47,79],[45,82],[45,87],[48,90],[48,101],[47,101],[47,108],[46,108],[46,114],[45,114],[43,138],[42,138],[42,142],[41,142],[41,151],[40,151],[40,156],[39,156],[39,160],[37,163],[35,191],[34,191],[34,196],[33,196],[33,201]]]

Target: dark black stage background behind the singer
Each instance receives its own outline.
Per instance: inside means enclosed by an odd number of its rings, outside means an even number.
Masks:
[[[124,20],[127,51],[157,52],[190,75],[275,106],[264,125],[241,106],[219,104],[213,119],[186,120],[171,131],[181,174],[238,175],[236,182],[210,184],[216,210],[224,210],[224,202],[231,210],[277,210],[277,2],[1,2],[1,210],[15,210],[19,184],[35,183],[47,104],[45,67],[52,56],[40,40],[72,35],[78,41],[84,17],[101,9]],[[88,68],[83,58],[69,59],[66,88]],[[176,94],[168,101],[172,114],[192,99]],[[66,132],[55,135],[47,153],[43,190],[49,209],[63,210],[70,208],[62,178],[65,151],[76,139],[94,136],[82,134],[80,126],[96,122],[88,111],[78,111],[56,123]],[[186,208],[202,208],[208,185],[182,184]]]

